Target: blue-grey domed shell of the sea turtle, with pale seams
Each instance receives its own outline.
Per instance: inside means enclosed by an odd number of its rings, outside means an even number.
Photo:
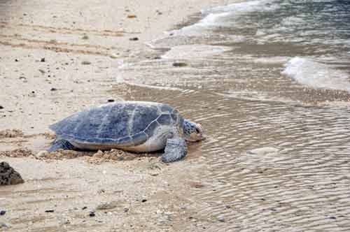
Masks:
[[[160,125],[182,124],[179,112],[166,104],[120,101],[76,113],[50,129],[74,143],[130,147],[145,143]]]

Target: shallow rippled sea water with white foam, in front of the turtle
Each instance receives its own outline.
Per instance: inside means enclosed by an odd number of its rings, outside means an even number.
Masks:
[[[118,81],[207,130],[188,155],[207,167],[199,228],[350,230],[350,1],[208,8],[150,48]]]

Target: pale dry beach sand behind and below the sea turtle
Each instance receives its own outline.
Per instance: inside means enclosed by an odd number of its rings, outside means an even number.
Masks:
[[[25,179],[0,188],[0,231],[203,230],[211,219],[191,216],[201,204],[191,189],[203,187],[191,154],[169,166],[116,150],[36,154],[54,138],[52,122],[128,98],[127,85],[109,90],[120,64],[156,56],[147,41],[225,3],[0,1],[0,160]]]

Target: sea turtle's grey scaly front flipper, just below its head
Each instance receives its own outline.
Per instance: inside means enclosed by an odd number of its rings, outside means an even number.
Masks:
[[[186,154],[187,145],[183,138],[168,138],[165,152],[162,155],[162,161],[164,163],[179,161],[180,159],[183,159],[183,157],[186,157]]]

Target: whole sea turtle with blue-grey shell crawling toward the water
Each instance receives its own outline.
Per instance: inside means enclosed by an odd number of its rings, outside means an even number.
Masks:
[[[162,161],[187,154],[186,141],[204,138],[202,126],[181,117],[163,103],[118,101],[66,117],[50,126],[57,139],[48,152],[110,150],[154,152],[165,148]]]

